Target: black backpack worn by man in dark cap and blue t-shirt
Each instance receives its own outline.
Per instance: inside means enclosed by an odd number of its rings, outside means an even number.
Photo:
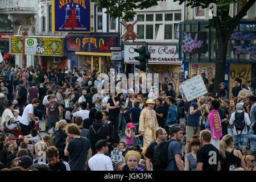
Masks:
[[[155,171],[164,171],[171,160],[168,159],[168,146],[170,142],[176,141],[175,139],[165,140],[157,144],[154,148],[153,166]],[[174,158],[175,159],[175,158]]]

